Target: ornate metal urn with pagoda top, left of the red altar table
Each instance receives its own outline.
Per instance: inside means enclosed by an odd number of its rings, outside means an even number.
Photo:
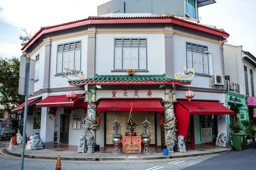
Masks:
[[[112,155],[119,155],[122,154],[122,152],[119,150],[119,144],[121,143],[121,123],[117,120],[113,122],[113,144],[115,146],[114,150],[111,152]]]

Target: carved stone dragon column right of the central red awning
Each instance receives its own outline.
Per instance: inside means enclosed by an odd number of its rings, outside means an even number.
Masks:
[[[176,136],[176,117],[173,108],[173,101],[175,100],[175,91],[167,90],[166,91],[166,102],[164,102],[164,130],[165,130],[165,144],[169,147],[169,152],[173,152],[173,146],[177,141]],[[171,147],[172,146],[172,147]],[[172,149],[170,149],[172,148]]]

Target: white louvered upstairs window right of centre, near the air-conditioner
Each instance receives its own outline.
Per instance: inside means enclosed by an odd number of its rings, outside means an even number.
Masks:
[[[209,58],[207,46],[186,43],[187,68],[195,68],[195,73],[209,75]]]

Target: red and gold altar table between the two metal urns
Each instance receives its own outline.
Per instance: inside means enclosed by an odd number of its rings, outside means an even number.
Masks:
[[[139,148],[139,153],[141,153],[141,136],[123,136],[122,137],[122,148],[123,153],[126,153],[127,147],[137,147]],[[128,150],[127,153],[138,153],[137,150]]]

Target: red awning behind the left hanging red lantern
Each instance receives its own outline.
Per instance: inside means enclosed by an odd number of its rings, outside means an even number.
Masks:
[[[72,99],[70,102],[70,99],[67,98],[66,95],[64,96],[49,96],[45,99],[43,99],[41,102],[38,102],[36,104],[37,108],[42,107],[73,107],[75,105],[75,102],[77,99],[79,99],[84,94],[77,94],[75,99]]]

